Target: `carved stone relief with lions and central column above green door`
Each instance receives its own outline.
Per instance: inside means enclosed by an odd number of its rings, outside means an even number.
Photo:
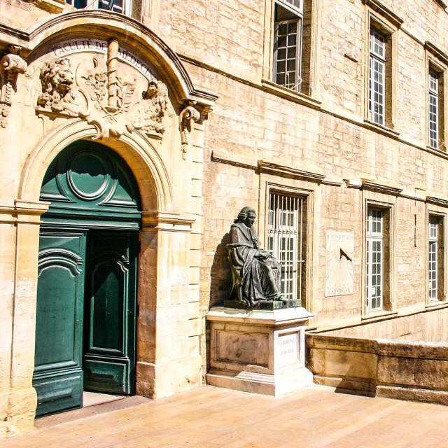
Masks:
[[[93,139],[118,137],[125,130],[141,130],[161,138],[168,104],[166,85],[151,77],[145,90],[138,89],[135,78],[126,79],[120,73],[118,55],[118,41],[110,40],[106,64],[101,56],[92,58],[92,66],[78,64],[76,69],[69,57],[45,63],[36,111],[48,116],[84,118],[97,128]]]

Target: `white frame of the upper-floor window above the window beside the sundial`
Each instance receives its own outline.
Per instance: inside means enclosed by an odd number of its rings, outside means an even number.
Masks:
[[[379,39],[375,39],[379,38]],[[382,40],[382,45],[377,43]],[[377,125],[384,126],[386,123],[386,41],[387,36],[379,31],[373,25],[370,25],[369,35],[369,78],[368,78],[368,117]],[[379,90],[375,89],[374,74],[379,73],[375,68],[381,67],[382,79],[378,80],[377,84],[382,87],[381,102],[375,101],[375,94],[379,94]],[[381,106],[381,113],[378,110]]]

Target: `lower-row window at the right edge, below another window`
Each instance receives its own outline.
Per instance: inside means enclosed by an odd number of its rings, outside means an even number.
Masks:
[[[428,300],[444,300],[443,217],[430,215],[428,228]]]

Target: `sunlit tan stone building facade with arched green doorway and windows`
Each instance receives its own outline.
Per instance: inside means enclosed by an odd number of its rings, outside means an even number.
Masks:
[[[246,205],[310,328],[448,307],[446,8],[1,1],[0,433],[79,406],[83,381],[110,391],[102,374],[149,397],[204,384]],[[121,269],[110,309],[99,253]],[[74,314],[45,302],[59,286]],[[95,332],[113,306],[119,348]],[[45,319],[71,328],[64,353]]]

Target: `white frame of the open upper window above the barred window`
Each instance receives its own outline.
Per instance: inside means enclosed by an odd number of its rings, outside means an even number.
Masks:
[[[288,10],[290,13],[293,13],[295,15],[295,18],[288,19],[288,20],[278,20],[274,21],[274,58],[272,63],[272,80],[274,83],[282,85],[283,87],[289,88],[290,90],[295,90],[296,92],[300,92],[300,86],[302,85],[302,28],[303,28],[303,1],[304,0],[275,0],[275,4],[281,6],[281,8],[284,8]],[[293,3],[298,3],[298,6],[294,5]],[[286,44],[286,47],[284,47],[285,50],[285,71],[284,71],[284,82],[279,83],[278,75],[283,74],[283,72],[277,71],[277,62],[279,62],[279,48],[278,48],[278,42],[279,42],[279,27],[282,25],[286,25],[286,27],[289,27],[290,24],[295,23],[295,83],[289,82],[289,72],[288,71],[288,61],[293,60],[292,57],[288,58],[288,43]],[[288,34],[286,34],[288,36]],[[283,47],[281,48],[283,50]],[[283,59],[281,59],[283,61]]]

